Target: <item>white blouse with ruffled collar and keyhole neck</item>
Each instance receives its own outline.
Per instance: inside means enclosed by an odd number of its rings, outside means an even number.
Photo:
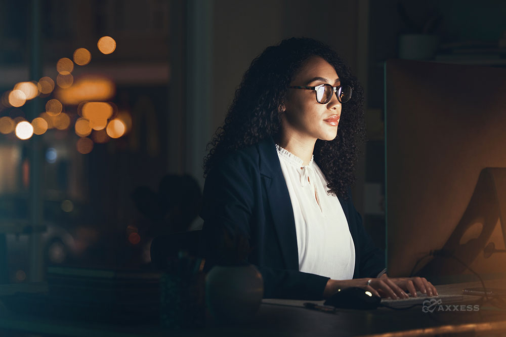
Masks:
[[[276,144],[281,170],[288,187],[299,249],[299,270],[330,277],[352,279],[355,246],[338,197],[328,192],[320,167]]]

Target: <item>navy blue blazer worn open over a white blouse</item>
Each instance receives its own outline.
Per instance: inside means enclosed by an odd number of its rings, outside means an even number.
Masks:
[[[339,201],[355,244],[353,278],[374,278],[385,268],[385,253],[364,230],[350,188],[348,194],[348,201]],[[224,250],[227,237],[242,237],[250,246],[246,262],[264,279],[264,298],[323,299],[329,278],[299,271],[293,209],[272,137],[228,155],[212,168],[204,183],[200,217],[204,271],[230,258],[230,250]]]

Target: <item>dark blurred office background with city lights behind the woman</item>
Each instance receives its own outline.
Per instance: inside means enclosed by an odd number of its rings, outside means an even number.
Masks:
[[[205,146],[251,60],[291,36],[335,48],[365,88],[352,189],[385,247],[383,62],[504,66],[505,14],[490,0],[0,0],[0,281],[41,280],[48,265],[147,268],[153,237],[200,228]],[[112,53],[99,50],[103,36]],[[71,71],[58,72],[62,58]],[[41,90],[47,77],[53,90],[10,102],[18,83]],[[43,114],[52,99],[60,117]],[[79,119],[88,101],[107,102],[110,127],[90,133]],[[16,124],[37,117],[49,129],[20,139],[30,132]]]

